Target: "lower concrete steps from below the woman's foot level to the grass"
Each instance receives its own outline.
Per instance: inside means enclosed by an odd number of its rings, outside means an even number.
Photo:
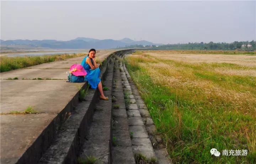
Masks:
[[[112,96],[116,100],[112,103],[113,164],[143,163],[138,161],[139,154],[144,155],[148,163],[170,164],[171,161],[148,109],[122,62],[126,55],[128,54],[121,54],[118,69],[115,69],[113,77]],[[115,104],[120,106],[119,109],[115,108]]]

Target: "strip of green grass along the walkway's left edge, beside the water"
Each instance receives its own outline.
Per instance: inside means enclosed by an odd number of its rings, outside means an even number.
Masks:
[[[6,57],[2,56],[0,60],[0,72],[20,69],[33,65],[43,64],[47,62],[64,60],[84,56],[85,54],[63,54],[63,55],[44,55],[44,56],[22,56],[22,57]]]

